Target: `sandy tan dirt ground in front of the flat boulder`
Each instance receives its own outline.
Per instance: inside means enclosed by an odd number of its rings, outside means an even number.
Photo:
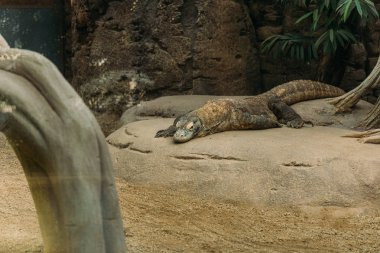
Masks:
[[[130,252],[379,252],[375,208],[258,207],[117,179]],[[41,252],[22,169],[0,136],[0,252]]]

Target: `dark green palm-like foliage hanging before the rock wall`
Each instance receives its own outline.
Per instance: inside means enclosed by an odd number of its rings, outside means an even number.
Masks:
[[[303,61],[317,59],[318,53],[334,55],[339,48],[355,43],[354,25],[379,18],[370,0],[279,0],[281,4],[305,9],[296,24],[309,22],[308,35],[273,35],[262,43],[262,52],[274,57]],[[318,53],[317,53],[318,52]]]

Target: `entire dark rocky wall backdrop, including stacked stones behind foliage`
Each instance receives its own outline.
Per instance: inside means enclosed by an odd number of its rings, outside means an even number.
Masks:
[[[276,1],[81,0],[71,8],[71,81],[108,117],[163,95],[250,95],[316,76],[316,63],[260,54],[268,36],[299,29],[300,13]],[[342,59],[345,90],[376,63],[380,23],[367,29]]]

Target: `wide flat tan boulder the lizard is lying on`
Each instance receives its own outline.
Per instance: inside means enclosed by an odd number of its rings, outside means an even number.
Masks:
[[[325,100],[295,109],[316,124],[352,127],[371,107],[334,115]],[[229,131],[173,144],[153,138],[173,119],[130,123],[107,138],[118,176],[181,192],[262,205],[354,207],[378,203],[378,145],[365,145],[333,127]],[[327,141],[328,140],[328,141]],[[344,147],[344,148],[342,148]]]

